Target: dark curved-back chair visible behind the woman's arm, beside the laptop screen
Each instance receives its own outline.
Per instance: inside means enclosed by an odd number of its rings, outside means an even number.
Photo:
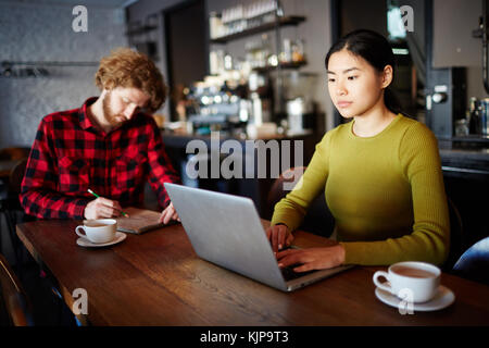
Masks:
[[[281,173],[274,182],[267,197],[269,216],[272,216],[275,204],[289,192],[289,190],[284,189],[284,184],[299,181],[304,171],[305,166],[291,167]],[[333,214],[326,204],[324,190],[322,190],[309,206],[308,212],[302,224],[299,226],[299,229],[311,232],[323,237],[330,237],[334,228],[335,217],[333,217]]]

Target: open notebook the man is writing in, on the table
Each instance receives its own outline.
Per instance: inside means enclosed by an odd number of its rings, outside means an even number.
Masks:
[[[161,212],[138,208],[124,208],[129,217],[117,217],[117,231],[125,233],[141,234],[151,229],[156,229],[165,224],[159,222]],[[167,225],[173,224],[171,221]]]

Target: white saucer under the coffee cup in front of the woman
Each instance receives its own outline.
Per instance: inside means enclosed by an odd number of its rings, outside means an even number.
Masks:
[[[377,298],[384,303],[396,308],[399,308],[399,303],[402,301],[397,296],[386,290],[383,290],[378,287],[375,288],[375,296],[377,296]],[[448,287],[440,285],[437,295],[435,295],[435,297],[431,300],[424,303],[413,303],[413,310],[421,312],[438,311],[440,309],[449,307],[450,304],[453,303],[454,300],[455,295],[453,294],[453,291],[450,290]]]

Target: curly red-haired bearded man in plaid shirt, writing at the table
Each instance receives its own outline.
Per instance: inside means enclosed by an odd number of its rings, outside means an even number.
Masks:
[[[160,220],[178,219],[163,184],[179,178],[160,129],[145,112],[165,101],[162,74],[145,54],[121,48],[101,60],[95,79],[100,97],[40,122],[20,195],[26,213],[116,217],[123,207],[142,204],[149,182],[164,207]]]

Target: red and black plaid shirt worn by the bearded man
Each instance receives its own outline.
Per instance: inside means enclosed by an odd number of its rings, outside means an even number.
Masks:
[[[26,213],[42,219],[84,219],[95,199],[87,189],[140,206],[149,181],[162,207],[170,203],[163,183],[179,183],[154,120],[138,113],[105,134],[79,109],[42,119],[30,150],[20,199]]]

